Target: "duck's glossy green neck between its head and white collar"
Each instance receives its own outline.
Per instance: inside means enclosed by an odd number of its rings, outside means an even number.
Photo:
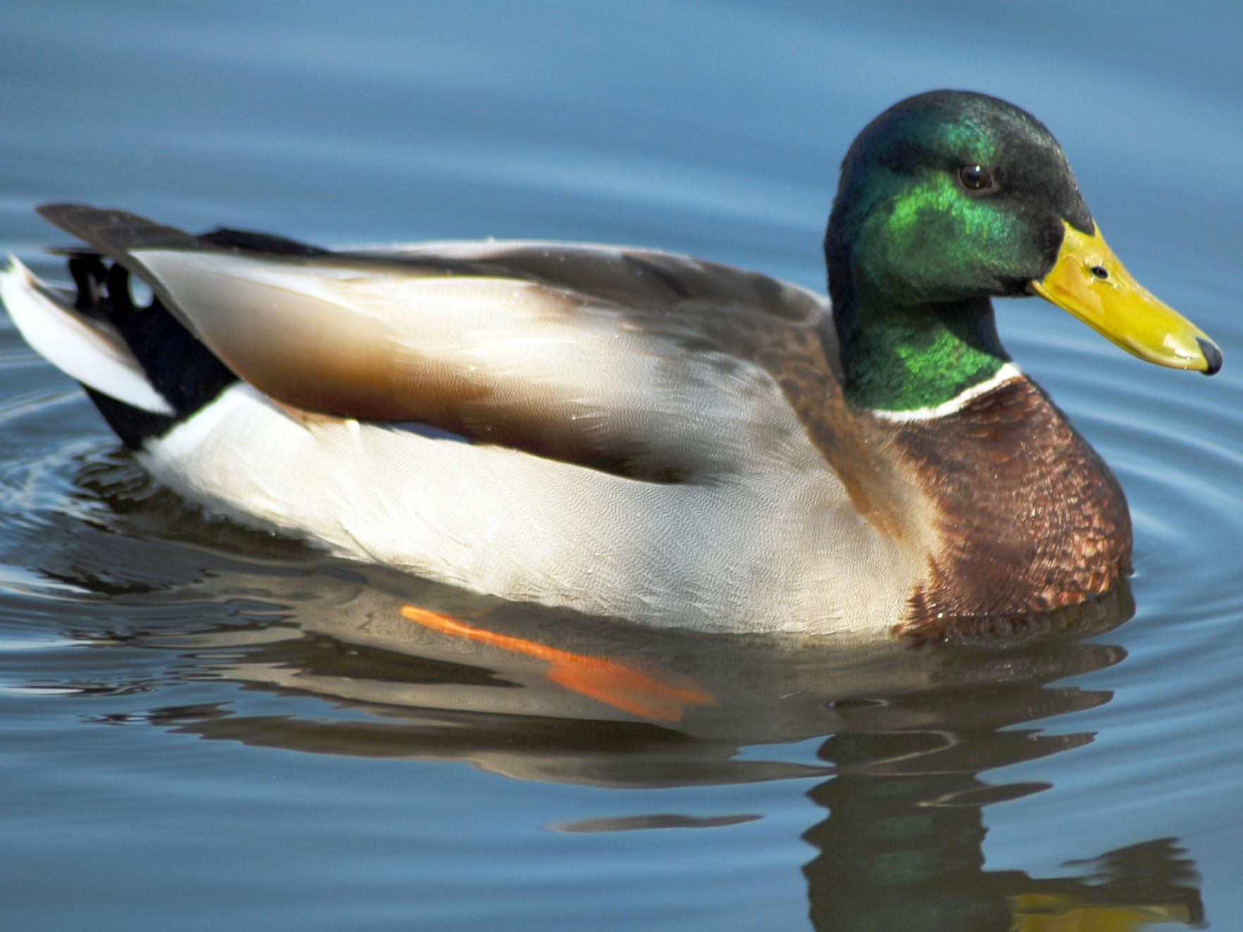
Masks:
[[[849,265],[830,271],[829,288],[851,405],[935,410],[970,398],[1009,362],[987,297],[901,304]]]

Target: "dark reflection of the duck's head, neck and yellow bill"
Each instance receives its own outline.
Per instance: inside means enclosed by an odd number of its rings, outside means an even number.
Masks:
[[[1076,865],[1079,877],[1042,880],[984,869],[982,806],[1048,784],[989,784],[981,770],[1091,739],[996,728],[1109,700],[1073,688],[1040,693],[1047,705],[1025,708],[1023,687],[962,696],[997,703],[996,724],[936,731],[902,727],[901,708],[915,711],[917,696],[900,697],[885,711],[851,710],[846,729],[820,748],[837,775],[810,792],[829,813],[804,835],[819,849],[803,867],[817,930],[1126,932],[1203,920],[1195,865],[1173,839],[1100,854]],[[926,720],[927,712],[914,717]],[[951,724],[950,718],[941,721]]]

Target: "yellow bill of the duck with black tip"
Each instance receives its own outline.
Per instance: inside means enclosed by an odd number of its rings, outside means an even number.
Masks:
[[[1222,350],[1196,324],[1131,277],[1096,232],[1062,221],[1066,234],[1052,271],[1030,291],[1069,311],[1127,353],[1171,369],[1213,375]]]

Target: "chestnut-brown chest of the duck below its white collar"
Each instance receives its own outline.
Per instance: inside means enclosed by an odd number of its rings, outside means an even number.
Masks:
[[[1130,572],[1117,480],[1034,383],[895,425],[892,442],[931,500],[936,542],[902,634],[1023,624],[1096,599]]]

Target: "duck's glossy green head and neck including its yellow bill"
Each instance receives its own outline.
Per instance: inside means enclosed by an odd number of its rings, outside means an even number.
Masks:
[[[932,91],[874,119],[843,162],[824,246],[859,404],[935,406],[996,374],[994,296],[1040,295],[1149,362],[1221,368],[1105,245],[1053,134],[996,97]]]

